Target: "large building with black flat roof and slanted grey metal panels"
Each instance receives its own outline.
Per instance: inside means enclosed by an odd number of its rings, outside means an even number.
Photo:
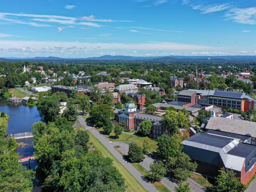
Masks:
[[[256,146],[243,141],[235,134],[199,132],[182,141],[182,151],[196,161],[197,172],[216,177],[220,168],[232,169],[246,185],[256,172]]]

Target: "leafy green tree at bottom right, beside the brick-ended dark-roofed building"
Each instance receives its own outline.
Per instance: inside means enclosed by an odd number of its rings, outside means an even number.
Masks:
[[[233,170],[226,170],[221,168],[220,174],[215,177],[215,187],[213,192],[244,192],[246,187],[239,181]]]

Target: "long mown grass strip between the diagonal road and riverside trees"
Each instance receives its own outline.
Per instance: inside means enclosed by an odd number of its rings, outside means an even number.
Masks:
[[[90,141],[95,147],[100,149],[103,156],[113,159],[113,165],[124,177],[125,184],[127,185],[126,190],[128,192],[147,192],[147,190],[139,183],[139,181],[136,180],[130,172],[128,172],[128,170],[116,159],[115,156],[112,155],[112,153],[108,151],[104,145],[102,145],[102,143],[94,135],[92,135],[92,133],[89,131],[87,131],[87,133],[90,136]]]

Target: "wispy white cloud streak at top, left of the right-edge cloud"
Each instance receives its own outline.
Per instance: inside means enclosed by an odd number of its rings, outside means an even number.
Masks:
[[[192,9],[202,11],[201,12],[202,14],[223,11],[225,9],[230,8],[228,4],[212,4],[212,5],[204,5],[204,4],[192,5],[191,4],[190,6],[192,7]]]

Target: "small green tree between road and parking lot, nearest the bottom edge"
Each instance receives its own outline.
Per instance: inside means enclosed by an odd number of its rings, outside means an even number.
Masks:
[[[149,164],[149,172],[151,172],[150,175],[148,175],[148,178],[150,179],[151,183],[155,181],[160,181],[164,178],[164,175],[166,174],[164,164],[162,161],[156,162],[156,163],[150,163]]]

